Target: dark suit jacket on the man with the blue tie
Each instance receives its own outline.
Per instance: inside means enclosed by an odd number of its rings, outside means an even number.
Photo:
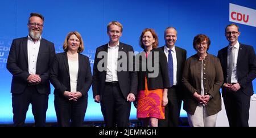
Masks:
[[[183,74],[184,64],[187,59],[187,51],[177,46],[175,46],[174,48],[176,50],[176,57],[177,57],[177,87],[181,88],[182,87],[181,77]],[[164,46],[160,47],[159,49],[164,51]]]

